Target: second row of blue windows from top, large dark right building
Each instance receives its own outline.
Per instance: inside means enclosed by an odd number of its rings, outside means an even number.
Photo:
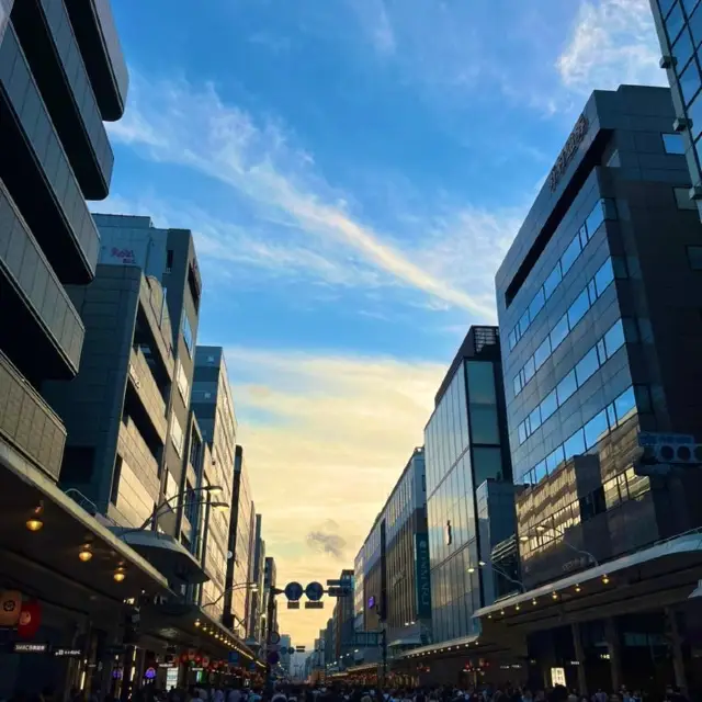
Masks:
[[[600,267],[599,271],[588,281],[582,292],[576,297],[575,302],[568,308],[561,319],[548,331],[546,338],[539,346],[535,353],[529,358],[526,363],[520,369],[519,373],[512,381],[514,388],[514,397],[519,395],[529,381],[536,374],[536,371],[551,358],[551,354],[566,340],[568,335],[575,329],[575,326],[582,319],[585,314],[590,309],[595,302],[611,285],[614,278],[625,278],[625,262],[623,259],[616,260],[619,275],[615,275],[614,262],[607,259]]]

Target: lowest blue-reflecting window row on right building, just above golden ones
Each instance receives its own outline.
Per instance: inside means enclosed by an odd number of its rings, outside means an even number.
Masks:
[[[564,461],[592,449],[598,441],[633,417],[637,406],[646,407],[649,404],[647,386],[629,387],[613,403],[556,446],[555,451],[543,461],[526,471],[520,482],[524,485],[537,485],[554,473]]]

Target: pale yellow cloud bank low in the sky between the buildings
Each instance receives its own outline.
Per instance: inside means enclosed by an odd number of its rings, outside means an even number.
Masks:
[[[423,443],[444,364],[286,348],[225,354],[237,441],[279,581],[339,577],[353,567],[378,507]],[[343,559],[310,557],[310,534]],[[328,612],[290,616],[312,638]],[[286,611],[282,618],[285,626]]]

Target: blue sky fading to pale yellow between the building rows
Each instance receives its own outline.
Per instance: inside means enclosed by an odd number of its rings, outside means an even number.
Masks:
[[[190,228],[279,584],[338,577],[423,443],[591,90],[665,84],[648,0],[113,0],[97,212]],[[196,5],[196,11],[195,11]],[[281,612],[309,646],[331,615]]]

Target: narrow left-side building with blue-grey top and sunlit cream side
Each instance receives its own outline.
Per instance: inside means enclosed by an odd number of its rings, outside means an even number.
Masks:
[[[186,476],[183,490],[193,507],[197,506],[197,514],[203,521],[203,554],[211,580],[203,585],[201,604],[207,607],[213,616],[222,619],[228,597],[225,590],[231,508],[212,509],[211,505],[223,502],[231,506],[237,441],[237,420],[222,347],[195,348],[191,407],[200,428],[201,440],[210,449],[210,463],[206,463],[205,469],[193,471],[192,475]],[[189,427],[191,431],[194,428],[192,424]],[[196,449],[196,435],[190,443]],[[200,499],[196,490],[203,487],[203,480],[218,489]]]

